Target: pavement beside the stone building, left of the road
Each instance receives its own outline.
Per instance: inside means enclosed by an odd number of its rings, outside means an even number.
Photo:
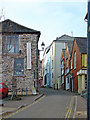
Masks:
[[[44,94],[36,94],[21,97],[21,100],[0,100],[0,119],[3,116],[13,113],[29,104],[32,104],[34,101],[41,98]]]

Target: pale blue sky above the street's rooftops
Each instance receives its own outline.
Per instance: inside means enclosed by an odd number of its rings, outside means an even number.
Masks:
[[[41,32],[39,49],[64,34],[87,36],[87,0],[0,0],[2,9],[5,19]]]

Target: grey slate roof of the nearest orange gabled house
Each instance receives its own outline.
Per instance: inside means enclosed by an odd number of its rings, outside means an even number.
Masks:
[[[87,38],[86,37],[76,37],[75,38],[78,48],[81,53],[87,53]]]

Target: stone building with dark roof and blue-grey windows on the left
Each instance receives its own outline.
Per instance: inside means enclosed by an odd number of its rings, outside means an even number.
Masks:
[[[38,41],[36,31],[9,19],[0,22],[0,82],[9,90],[38,90]]]

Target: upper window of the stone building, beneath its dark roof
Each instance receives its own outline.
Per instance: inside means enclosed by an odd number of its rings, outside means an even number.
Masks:
[[[18,35],[6,36],[3,40],[3,53],[18,53],[19,37]]]

